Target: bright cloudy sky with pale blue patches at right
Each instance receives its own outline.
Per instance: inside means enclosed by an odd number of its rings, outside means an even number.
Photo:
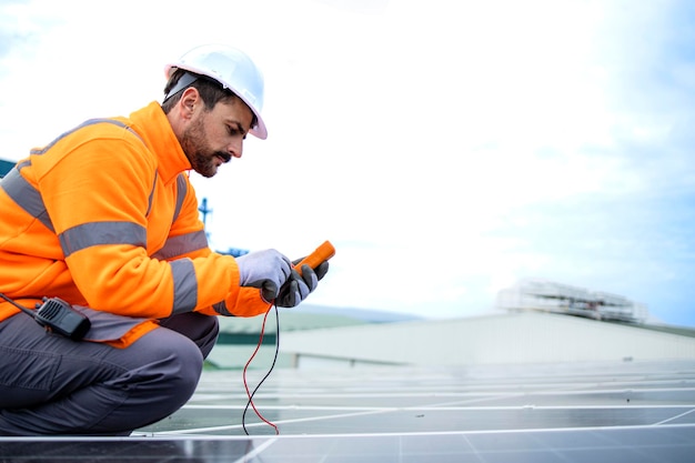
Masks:
[[[338,249],[310,301],[488,312],[542,278],[695,326],[688,0],[0,0],[8,160],[161,101],[224,42],[265,74],[269,139],[213,179],[213,248]]]

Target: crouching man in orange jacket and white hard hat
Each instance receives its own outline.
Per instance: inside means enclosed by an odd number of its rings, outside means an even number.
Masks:
[[[187,173],[212,177],[248,133],[266,138],[263,79],[222,46],[191,50],[167,77],[161,105],[87,121],[0,182],[2,435],[127,435],[165,417],[198,384],[215,315],[295,306],[328,271],[208,248]],[[14,305],[43,298],[89,318],[83,340]]]

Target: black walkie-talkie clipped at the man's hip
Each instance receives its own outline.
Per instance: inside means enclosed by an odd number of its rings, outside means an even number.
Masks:
[[[85,315],[60,298],[43,298],[42,304],[37,303],[36,310],[30,310],[2,293],[0,296],[34,319],[46,331],[62,334],[73,341],[84,338],[92,325]]]

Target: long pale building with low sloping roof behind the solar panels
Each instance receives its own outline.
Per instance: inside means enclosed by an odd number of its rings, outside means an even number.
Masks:
[[[301,312],[301,306],[293,311]],[[695,359],[695,330],[604,322],[541,311],[303,331],[284,330],[281,320],[280,326],[280,352],[290,359],[291,366],[299,369]]]

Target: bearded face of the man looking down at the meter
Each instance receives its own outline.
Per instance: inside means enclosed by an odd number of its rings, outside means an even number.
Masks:
[[[222,163],[241,158],[252,120],[251,109],[236,98],[219,102],[211,111],[201,102],[181,137],[193,170],[213,177]]]

